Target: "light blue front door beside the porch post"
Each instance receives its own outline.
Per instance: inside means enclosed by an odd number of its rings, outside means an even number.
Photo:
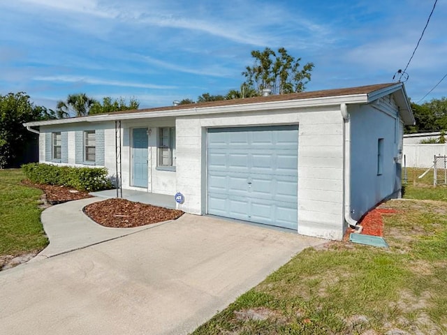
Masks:
[[[133,186],[147,188],[147,128],[133,129]]]

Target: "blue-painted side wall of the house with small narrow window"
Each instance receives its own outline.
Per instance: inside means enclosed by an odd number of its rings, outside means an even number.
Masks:
[[[383,110],[383,112],[379,111]],[[384,198],[400,191],[397,163],[402,157],[402,123],[393,99],[376,107],[349,106],[351,117],[351,209],[358,220]],[[378,140],[383,138],[383,172],[377,174]],[[395,159],[397,161],[395,161]]]

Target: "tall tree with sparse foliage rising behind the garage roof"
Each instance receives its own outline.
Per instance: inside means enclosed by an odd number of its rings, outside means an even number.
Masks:
[[[301,58],[288,54],[284,47],[274,52],[270,47],[265,50],[253,50],[253,66],[247,66],[242,72],[245,84],[262,94],[263,89],[270,89],[271,94],[287,94],[304,91],[305,84],[311,80],[313,63],[300,68]]]

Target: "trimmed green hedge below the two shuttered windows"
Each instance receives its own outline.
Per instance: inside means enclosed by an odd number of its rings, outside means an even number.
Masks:
[[[79,191],[101,191],[112,188],[106,168],[74,168],[40,163],[22,165],[25,176],[36,184],[61,185]]]

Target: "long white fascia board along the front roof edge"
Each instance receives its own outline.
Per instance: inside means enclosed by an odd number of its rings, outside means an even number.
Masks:
[[[353,94],[349,96],[329,96],[323,98],[309,98],[290,101],[269,101],[265,103],[248,103],[240,105],[193,107],[184,110],[161,110],[152,112],[134,112],[123,114],[98,114],[94,116],[78,117],[73,119],[56,119],[47,121],[34,121],[24,126],[52,126],[56,124],[72,124],[78,122],[118,121],[131,119],[153,119],[158,117],[186,117],[201,114],[221,114],[231,112],[256,112],[263,110],[281,110],[305,107],[321,107],[339,105],[340,103],[367,103],[367,94]]]

